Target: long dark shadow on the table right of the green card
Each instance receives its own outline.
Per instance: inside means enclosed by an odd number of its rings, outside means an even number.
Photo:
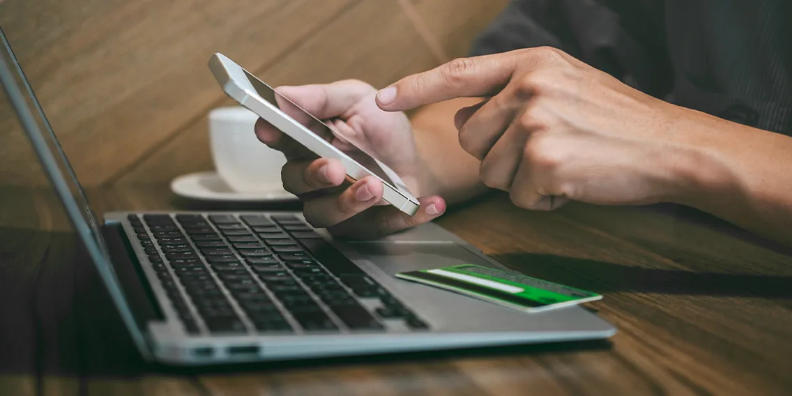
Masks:
[[[630,267],[549,254],[506,254],[495,258],[527,276],[598,293],[634,291],[792,299],[792,276]]]

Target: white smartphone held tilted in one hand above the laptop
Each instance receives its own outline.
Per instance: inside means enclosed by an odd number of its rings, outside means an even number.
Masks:
[[[287,97],[277,93],[271,86],[250,74],[228,59],[227,56],[220,53],[212,55],[209,59],[209,69],[229,97],[261,116],[269,124],[280,129],[319,157],[340,160],[346,168],[348,178],[351,178],[352,181],[360,180],[366,176],[377,177],[383,182],[383,200],[388,204],[408,215],[415,215],[418,208],[421,208],[421,204],[418,203],[413,193],[409,192],[393,169],[354,146],[352,142],[346,143],[355,147],[353,150],[341,150],[333,146],[329,138],[338,136],[343,139],[343,135]],[[289,116],[287,112],[294,114],[295,117]],[[295,118],[301,121],[295,120]]]

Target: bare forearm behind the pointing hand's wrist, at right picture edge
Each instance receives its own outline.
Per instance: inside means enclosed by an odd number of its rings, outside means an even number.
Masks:
[[[680,203],[792,246],[792,138],[699,112],[680,123],[699,147]]]

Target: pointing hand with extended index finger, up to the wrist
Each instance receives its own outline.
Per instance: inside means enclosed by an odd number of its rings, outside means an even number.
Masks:
[[[680,162],[695,158],[674,128],[691,110],[554,48],[455,59],[380,90],[377,102],[402,111],[453,97],[487,97],[457,112],[459,143],[482,161],[484,184],[521,208],[672,200]]]

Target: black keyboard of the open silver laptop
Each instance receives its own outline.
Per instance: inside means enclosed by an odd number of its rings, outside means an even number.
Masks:
[[[294,215],[128,219],[188,333],[381,332],[383,321],[428,329]],[[377,300],[374,310],[360,303]]]

